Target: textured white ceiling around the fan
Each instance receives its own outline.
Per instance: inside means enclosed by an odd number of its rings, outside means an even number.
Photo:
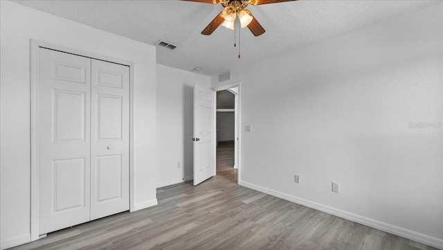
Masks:
[[[219,5],[172,0],[15,2],[146,44],[163,39],[179,48],[157,48],[157,63],[186,71],[201,67],[202,71],[197,73],[215,75],[422,8],[433,1],[305,0],[248,6],[266,33],[254,37],[242,28],[241,59],[233,47],[233,30],[220,26],[210,36],[200,34],[223,9]]]

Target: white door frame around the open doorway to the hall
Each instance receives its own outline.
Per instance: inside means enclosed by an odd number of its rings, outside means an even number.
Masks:
[[[235,108],[234,116],[237,116],[237,112],[238,112],[238,120],[237,120],[237,123],[234,125],[234,130],[238,130],[238,131],[235,131],[235,132],[237,132],[235,134],[237,134],[237,136],[238,136],[238,166],[236,166],[237,167],[237,184],[238,185],[240,184],[240,177],[242,175],[242,171],[240,168],[240,166],[242,166],[242,163],[241,163],[242,162],[241,161],[242,160],[242,130],[241,130],[241,126],[240,126],[242,124],[242,113],[240,111],[240,107],[241,107],[241,103],[242,103],[242,98],[241,98],[242,87],[241,87],[241,85],[242,85],[242,82],[239,81],[239,82],[231,82],[228,84],[223,84],[223,85],[212,88],[213,91],[217,92],[217,91],[228,90],[228,89],[238,87],[238,93],[235,96],[235,98],[237,98],[237,101],[235,102],[235,107],[234,107]],[[215,107],[217,107],[216,98],[215,98],[214,102],[215,102],[214,103]],[[216,112],[216,110],[217,109],[215,109],[215,112]],[[216,131],[216,129],[217,129],[216,119],[217,119],[217,116],[216,116],[216,114],[214,114],[214,131]],[[214,156],[217,156],[217,141],[216,140],[217,140],[217,133],[214,133],[214,141],[215,141]],[[234,148],[234,154],[235,154],[236,150],[237,150],[237,148]],[[217,161],[216,157],[214,157],[214,159],[215,159],[214,161]],[[234,163],[235,163],[235,159],[234,159]],[[215,168],[214,175],[216,175],[216,174],[217,174],[217,167]]]

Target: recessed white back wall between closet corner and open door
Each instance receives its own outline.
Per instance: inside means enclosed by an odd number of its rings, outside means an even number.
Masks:
[[[209,87],[210,77],[157,65],[158,187],[192,179],[194,84]]]

